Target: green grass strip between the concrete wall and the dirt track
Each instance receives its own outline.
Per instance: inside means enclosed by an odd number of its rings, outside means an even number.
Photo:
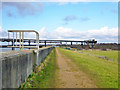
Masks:
[[[54,87],[54,75],[56,70],[56,51],[55,49],[47,56],[48,61],[44,64],[44,67],[40,72],[36,70],[33,72],[26,82],[24,82],[20,88],[53,88]]]

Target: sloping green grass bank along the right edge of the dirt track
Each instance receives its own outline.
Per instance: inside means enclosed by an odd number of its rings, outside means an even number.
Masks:
[[[59,50],[61,53],[69,57],[74,63],[76,63],[76,65],[80,67],[80,70],[92,78],[99,88],[118,88],[117,63],[111,63],[95,56],[90,56],[71,50],[62,48],[59,48]]]

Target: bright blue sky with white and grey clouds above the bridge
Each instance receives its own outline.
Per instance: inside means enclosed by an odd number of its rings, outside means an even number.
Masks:
[[[2,2],[0,15],[0,37],[36,30],[40,39],[118,42],[118,2]]]

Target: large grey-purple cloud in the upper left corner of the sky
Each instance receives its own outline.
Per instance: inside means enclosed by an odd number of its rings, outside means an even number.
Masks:
[[[32,2],[3,2],[2,6],[3,9],[6,7],[9,9],[7,15],[10,17],[15,16],[10,7],[16,8],[20,16],[34,15],[43,9],[42,4],[39,2],[34,4]]]

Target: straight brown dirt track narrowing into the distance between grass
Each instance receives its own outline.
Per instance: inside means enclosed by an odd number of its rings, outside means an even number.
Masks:
[[[59,68],[56,88],[97,88],[94,82],[57,48],[56,52]]]

